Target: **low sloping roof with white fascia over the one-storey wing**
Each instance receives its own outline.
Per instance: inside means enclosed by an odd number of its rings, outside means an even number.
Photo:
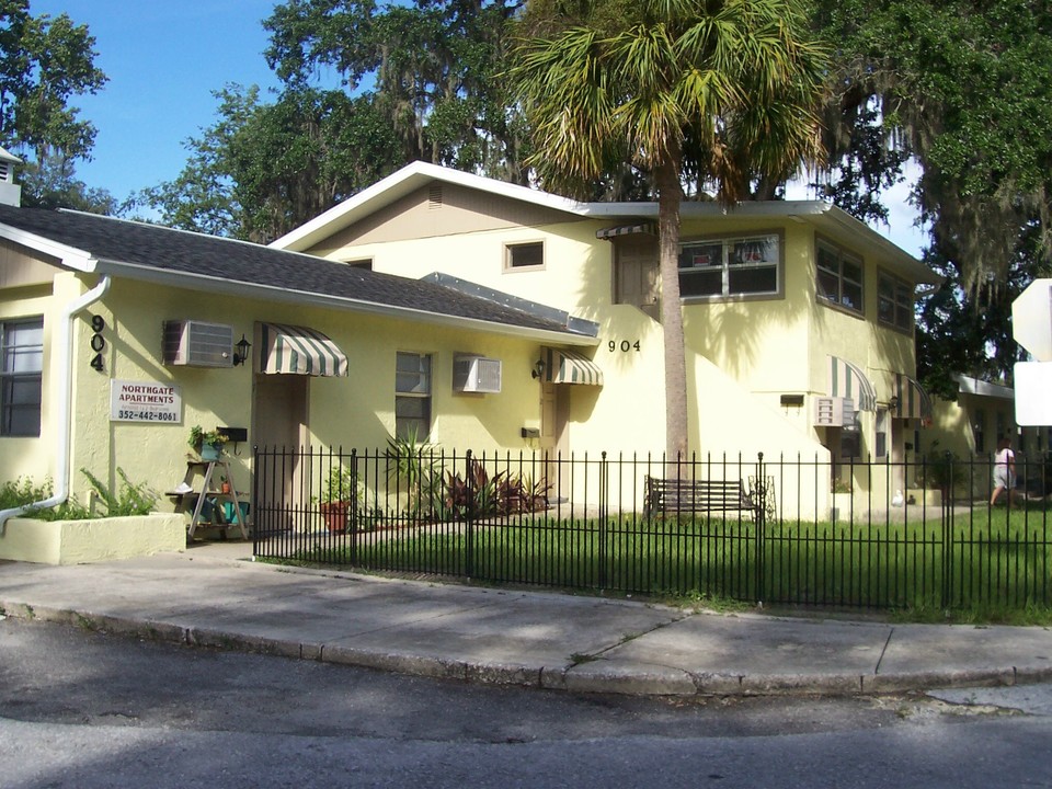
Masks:
[[[549,342],[594,344],[548,317],[313,255],[96,214],[0,205],[0,238],[85,273]]]

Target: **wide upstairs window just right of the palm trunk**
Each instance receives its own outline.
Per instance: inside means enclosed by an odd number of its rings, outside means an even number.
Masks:
[[[779,293],[777,236],[690,241],[679,248],[679,295],[776,296]]]

